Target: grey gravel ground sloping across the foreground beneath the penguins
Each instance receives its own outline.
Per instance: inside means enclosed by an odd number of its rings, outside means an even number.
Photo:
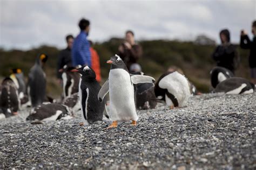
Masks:
[[[39,125],[28,111],[0,122],[0,169],[255,169],[256,93],[191,98],[186,108],[138,111],[138,125],[80,117]]]

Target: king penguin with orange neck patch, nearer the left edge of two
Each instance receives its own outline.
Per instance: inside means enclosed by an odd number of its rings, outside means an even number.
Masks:
[[[22,99],[26,94],[26,83],[25,83],[24,74],[22,70],[19,68],[11,69],[10,72],[11,72],[10,78],[16,84],[18,93],[19,93],[19,98]]]

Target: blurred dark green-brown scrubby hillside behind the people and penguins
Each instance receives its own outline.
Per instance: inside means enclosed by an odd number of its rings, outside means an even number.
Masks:
[[[112,38],[109,41],[96,43],[94,45],[100,56],[100,65],[102,67],[102,76],[107,78],[110,66],[106,60],[117,52],[118,45],[122,39]],[[185,75],[202,92],[208,92],[210,89],[210,70],[215,66],[211,59],[215,45],[198,45],[194,42],[181,42],[170,40],[151,40],[140,41],[143,47],[143,58],[139,60],[143,72],[158,79],[170,66],[178,66],[183,69]],[[249,51],[240,49],[241,64],[235,73],[237,76],[249,79],[248,54]],[[56,80],[56,64],[59,49],[50,46],[41,46],[29,51],[20,51],[13,49],[5,51],[0,49],[0,77],[8,76],[10,68],[21,68],[27,76],[29,69],[35,62],[38,53],[46,53],[49,60],[44,68],[48,87],[47,92],[50,96],[58,97],[62,91]]]

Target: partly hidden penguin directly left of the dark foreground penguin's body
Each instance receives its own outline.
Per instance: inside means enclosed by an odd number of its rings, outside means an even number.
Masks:
[[[78,110],[81,110],[78,93],[72,94],[69,97],[65,97],[64,100],[62,101],[62,104],[71,108],[73,112],[77,112]]]

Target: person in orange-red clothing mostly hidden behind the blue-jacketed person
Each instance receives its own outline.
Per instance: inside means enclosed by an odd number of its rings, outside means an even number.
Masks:
[[[94,70],[96,74],[96,80],[100,82],[102,77],[100,76],[100,63],[99,63],[99,55],[97,51],[92,47],[93,42],[89,40],[90,43],[90,52],[91,52],[91,62],[92,62],[92,69]]]

